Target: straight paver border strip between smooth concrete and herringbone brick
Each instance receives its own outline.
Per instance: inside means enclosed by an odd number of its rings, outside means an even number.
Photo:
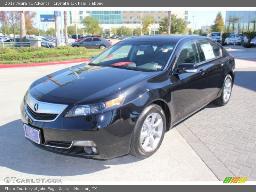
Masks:
[[[180,123],[175,128],[180,132],[181,136],[188,142],[191,148],[202,159],[212,173],[223,181],[226,177],[234,177],[235,175],[191,132],[184,123]]]

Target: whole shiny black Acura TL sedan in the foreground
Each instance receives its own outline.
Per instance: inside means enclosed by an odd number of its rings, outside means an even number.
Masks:
[[[64,154],[146,158],[173,125],[227,104],[234,77],[234,57],[207,37],[127,38],[32,83],[20,108],[25,137]]]

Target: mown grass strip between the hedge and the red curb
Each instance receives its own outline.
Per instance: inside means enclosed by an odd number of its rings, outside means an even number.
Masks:
[[[87,53],[81,55],[70,55],[70,56],[59,56],[59,57],[46,57],[46,58],[30,58],[30,59],[19,59],[19,60],[0,60],[0,64],[21,64],[21,63],[40,63],[50,61],[61,61],[61,60],[76,60],[76,59],[88,59],[92,56],[100,54],[103,50],[101,49],[88,49]]]

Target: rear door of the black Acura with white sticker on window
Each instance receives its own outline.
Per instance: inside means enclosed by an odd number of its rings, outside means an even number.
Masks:
[[[224,82],[224,66],[228,60],[222,57],[221,48],[207,40],[198,41],[200,59],[205,65],[207,78],[206,99],[208,102],[216,99]]]

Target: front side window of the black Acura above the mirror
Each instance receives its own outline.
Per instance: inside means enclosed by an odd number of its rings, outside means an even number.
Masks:
[[[198,51],[195,41],[189,42],[183,46],[176,62],[176,67],[182,63],[199,63]]]

